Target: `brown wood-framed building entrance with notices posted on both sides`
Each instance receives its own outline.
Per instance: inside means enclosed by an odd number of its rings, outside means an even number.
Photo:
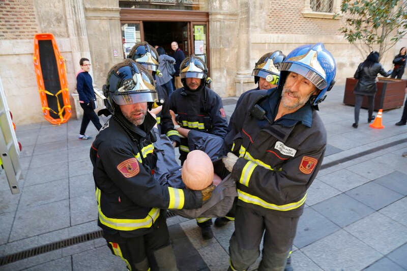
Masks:
[[[120,17],[124,57],[140,41],[161,46],[172,55],[171,42],[176,41],[185,56],[201,57],[210,71],[208,12],[122,8]]]

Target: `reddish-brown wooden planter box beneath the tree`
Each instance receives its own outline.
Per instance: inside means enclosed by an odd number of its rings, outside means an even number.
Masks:
[[[377,92],[374,96],[374,110],[389,110],[403,106],[407,80],[384,77],[378,77],[377,79],[379,79],[379,81],[376,82]],[[343,96],[344,104],[355,105],[353,89],[357,82],[358,79],[353,77],[346,78],[345,94]],[[366,96],[363,98],[362,107],[367,108]]]

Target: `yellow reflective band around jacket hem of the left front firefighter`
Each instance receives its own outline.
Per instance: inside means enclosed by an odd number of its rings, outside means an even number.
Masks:
[[[115,229],[115,230],[136,230],[141,228],[150,228],[153,226],[153,223],[157,220],[160,215],[159,208],[151,208],[147,217],[142,219],[119,219],[119,218],[109,218],[106,217],[103,212],[102,208],[100,207],[100,196],[101,191],[99,188],[96,188],[96,199],[98,201],[98,213],[99,213],[99,221],[103,225]]]

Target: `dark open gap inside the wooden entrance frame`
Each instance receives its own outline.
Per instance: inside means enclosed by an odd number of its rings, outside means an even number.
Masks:
[[[185,55],[189,54],[188,22],[143,22],[143,28],[144,41],[152,46],[161,46],[172,55],[171,42],[176,41]]]

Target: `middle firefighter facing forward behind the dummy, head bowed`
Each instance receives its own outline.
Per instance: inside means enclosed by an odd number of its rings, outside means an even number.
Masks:
[[[213,134],[224,138],[227,120],[222,100],[208,84],[208,69],[203,60],[195,55],[184,59],[180,66],[180,77],[183,87],[171,94],[169,109],[177,115],[177,122],[181,127]],[[181,138],[180,160],[187,157],[190,150],[188,139]],[[213,237],[212,219],[198,218],[202,237]]]

